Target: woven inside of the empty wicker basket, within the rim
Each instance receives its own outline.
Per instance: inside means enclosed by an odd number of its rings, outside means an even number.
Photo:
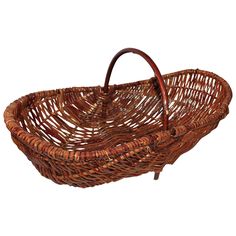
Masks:
[[[213,114],[222,103],[222,84],[194,70],[164,75],[169,127]],[[30,99],[30,98],[27,98]],[[67,150],[100,150],[162,130],[162,102],[153,79],[110,86],[38,93],[17,120],[27,132]]]

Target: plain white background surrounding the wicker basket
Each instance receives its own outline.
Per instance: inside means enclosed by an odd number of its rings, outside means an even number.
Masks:
[[[165,74],[200,68],[236,89],[235,1],[0,1],[0,111],[30,92],[102,85],[124,47]],[[111,83],[147,79],[134,55]],[[153,173],[94,188],[41,177],[1,118],[0,235],[236,235],[235,102],[194,149]]]

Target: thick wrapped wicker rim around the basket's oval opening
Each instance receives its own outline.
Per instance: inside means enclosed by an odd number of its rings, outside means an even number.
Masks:
[[[211,76],[212,78],[218,80],[223,88],[226,91],[226,96],[223,98],[222,101],[222,106],[212,115],[209,115],[207,119],[202,119],[197,122],[193,122],[189,125],[180,125],[180,126],[174,126],[171,129],[167,131],[158,131],[153,135],[148,135],[148,136],[143,136],[140,137],[136,140],[121,144],[120,146],[114,147],[114,148],[106,148],[104,150],[97,150],[97,151],[86,151],[86,150],[81,150],[81,151],[71,151],[67,149],[63,149],[61,147],[58,147],[48,141],[43,140],[42,138],[35,136],[26,130],[24,130],[19,123],[15,120],[15,113],[17,104],[21,103],[23,105],[23,101],[27,99],[29,96],[39,96],[43,97],[45,92],[52,92],[53,94],[59,93],[61,90],[65,92],[73,91],[73,89],[94,89],[94,88],[101,88],[101,86],[88,86],[88,87],[72,87],[72,88],[64,88],[64,89],[55,89],[55,90],[48,90],[48,91],[39,91],[39,92],[34,92],[30,93],[28,95],[25,95],[14,102],[12,102],[5,110],[4,112],[4,121],[6,123],[7,128],[10,130],[11,134],[18,139],[21,143],[27,145],[31,149],[33,149],[35,152],[46,155],[49,159],[55,159],[55,160],[63,160],[63,161],[87,161],[91,158],[94,157],[104,157],[104,156],[109,156],[111,153],[121,153],[121,152],[129,152],[134,150],[135,148],[139,148],[141,146],[148,146],[151,142],[153,142],[153,138],[155,138],[157,143],[166,141],[170,138],[173,137],[179,137],[181,135],[184,135],[186,132],[189,130],[193,129],[198,129],[200,127],[209,125],[211,123],[214,123],[216,120],[221,120],[223,119],[227,114],[228,114],[228,105],[231,101],[232,98],[232,91],[228,83],[221,78],[220,76],[216,75],[213,72],[205,71],[205,70],[200,70],[200,69],[185,69],[185,70],[180,70],[172,73],[168,73],[163,75],[164,80],[168,77],[171,77],[175,74],[186,74],[186,73],[198,73],[198,74],[204,74],[207,76]],[[111,87],[116,86],[117,88],[122,87],[122,86],[134,86],[135,84],[142,84],[142,83],[147,83],[148,80],[141,80],[141,81],[136,81],[136,82],[131,82],[131,83],[123,83],[119,85],[111,85]],[[27,105],[27,104],[25,104]],[[181,129],[182,132],[176,133],[176,130]],[[42,150],[42,147],[43,150]]]

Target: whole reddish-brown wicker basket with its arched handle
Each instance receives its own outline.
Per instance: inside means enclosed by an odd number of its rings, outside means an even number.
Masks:
[[[142,56],[155,77],[108,86],[124,53]],[[31,93],[11,103],[4,119],[12,139],[38,171],[58,184],[89,187],[155,172],[172,164],[228,114],[227,82],[203,70],[161,76],[140,50],[121,50],[103,88]]]

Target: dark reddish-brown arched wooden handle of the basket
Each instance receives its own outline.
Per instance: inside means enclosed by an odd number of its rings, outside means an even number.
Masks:
[[[151,66],[151,68],[153,69],[154,71],[154,74],[155,74],[155,78],[160,86],[160,91],[161,91],[161,96],[162,96],[162,106],[163,106],[163,126],[164,126],[164,129],[167,130],[168,129],[168,95],[167,95],[167,90],[166,90],[166,87],[165,87],[165,83],[164,83],[164,80],[161,76],[161,73],[158,69],[158,67],[156,66],[155,62],[146,54],[144,53],[143,51],[139,50],[139,49],[136,49],[136,48],[125,48],[121,51],[119,51],[112,59],[109,67],[108,67],[108,70],[107,70],[107,74],[106,74],[106,78],[105,78],[105,83],[104,83],[104,87],[103,87],[103,92],[104,93],[108,93],[108,84],[109,84],[109,81],[110,81],[110,77],[111,77],[111,72],[112,72],[112,69],[117,61],[117,59],[122,56],[123,54],[125,53],[129,53],[129,52],[132,52],[132,53],[135,53],[135,54],[138,54],[140,55],[141,57],[143,57],[147,62],[148,64]]]

